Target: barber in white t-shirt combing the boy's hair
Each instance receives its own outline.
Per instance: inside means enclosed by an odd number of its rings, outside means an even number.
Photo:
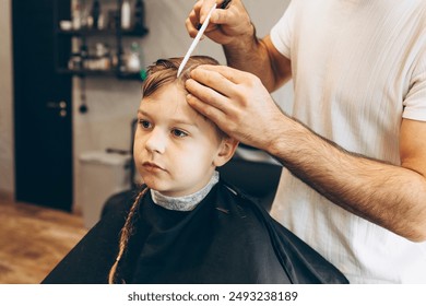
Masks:
[[[352,283],[426,283],[426,2],[293,0],[260,39],[234,0],[205,35],[228,67],[194,69],[187,101],[284,165],[271,214]],[[291,79],[292,116],[270,95]]]

